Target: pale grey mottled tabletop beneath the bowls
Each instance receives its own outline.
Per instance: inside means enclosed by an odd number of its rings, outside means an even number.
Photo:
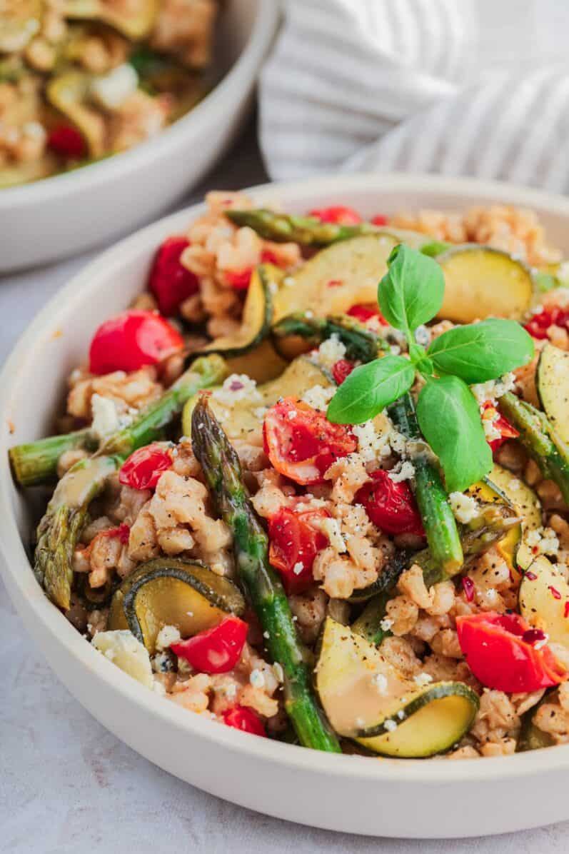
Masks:
[[[200,190],[188,196],[185,204],[200,198],[203,190],[237,189],[265,178],[250,128],[232,158],[227,158]],[[92,254],[47,269],[0,278],[0,361],[5,360],[16,337],[44,302]],[[191,761],[189,756],[188,762]],[[246,785],[247,772],[243,769],[243,786]],[[464,808],[468,810],[468,804]],[[496,804],[499,809],[500,804]],[[412,804],[409,816],[412,822]],[[480,823],[484,825],[483,816]],[[554,854],[567,850],[567,834],[569,822],[499,839],[369,839],[301,827],[213,798],[132,752],[67,693],[44,663],[41,650],[32,646],[0,582],[2,854]]]

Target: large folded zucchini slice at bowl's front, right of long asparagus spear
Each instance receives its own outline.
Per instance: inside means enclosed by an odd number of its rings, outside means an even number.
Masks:
[[[363,636],[331,617],[322,636],[316,689],[338,734],[392,757],[449,750],[478,710],[477,694],[463,682],[419,687]]]

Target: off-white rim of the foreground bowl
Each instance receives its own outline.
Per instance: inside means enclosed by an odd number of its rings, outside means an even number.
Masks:
[[[552,213],[569,218],[569,199],[541,190],[531,190],[497,181],[479,181],[476,178],[449,178],[423,174],[360,174],[355,176],[331,176],[298,180],[285,183],[261,184],[244,190],[260,202],[279,197],[279,202],[309,196],[318,197],[319,192],[340,197],[343,193],[357,190],[369,192],[390,190],[391,192],[425,191],[446,193],[449,196],[478,196],[481,202],[500,201],[524,207],[547,209]],[[450,199],[449,199],[450,201]],[[121,266],[127,259],[140,256],[144,248],[155,245],[161,237],[172,233],[187,221],[198,216],[203,204],[192,205],[177,213],[158,219],[155,223],[134,232],[119,243],[98,254],[67,285],[58,290],[44,308],[32,320],[16,342],[0,374],[0,424],[4,443],[9,445],[10,401],[21,373],[26,373],[38,342],[43,342],[50,332],[61,325],[64,309],[73,311],[73,306],[83,303],[91,290],[97,290],[97,282],[109,278],[113,266]],[[264,763],[276,762],[287,769],[306,770],[326,775],[353,777],[364,781],[393,781],[394,783],[452,783],[460,781],[505,781],[519,775],[542,774],[544,772],[569,769],[569,745],[554,749],[517,753],[509,757],[487,757],[484,762],[456,759],[453,762],[425,761],[418,759],[393,759],[378,757],[348,756],[323,753],[306,748],[283,744],[269,739],[251,738],[232,728],[205,719],[177,705],[166,703],[157,694],[127,679],[118,668],[104,658],[85,638],[67,622],[37,585],[18,530],[12,502],[13,485],[7,454],[0,460],[0,570],[9,576],[9,586],[15,585],[26,598],[28,617],[43,623],[57,646],[65,655],[75,659],[75,664],[91,671],[92,678],[105,683],[111,692],[116,692],[127,701],[141,705],[144,711],[180,732],[188,730],[199,738],[214,743],[243,757],[253,757]],[[56,675],[58,671],[56,670]],[[136,749],[136,748],[135,748]]]

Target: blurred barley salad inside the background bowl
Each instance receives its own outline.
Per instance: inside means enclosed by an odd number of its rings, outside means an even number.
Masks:
[[[155,136],[210,85],[217,0],[3,0],[0,189]]]

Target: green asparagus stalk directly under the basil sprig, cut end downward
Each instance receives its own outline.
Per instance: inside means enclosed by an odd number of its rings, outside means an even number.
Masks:
[[[419,430],[413,398],[409,393],[393,403],[388,412],[397,430],[411,442],[425,444]],[[437,465],[425,452],[413,460],[415,469],[415,498],[425,528],[431,558],[443,576],[450,578],[460,571],[463,563],[460,535],[450,508],[449,496]]]

